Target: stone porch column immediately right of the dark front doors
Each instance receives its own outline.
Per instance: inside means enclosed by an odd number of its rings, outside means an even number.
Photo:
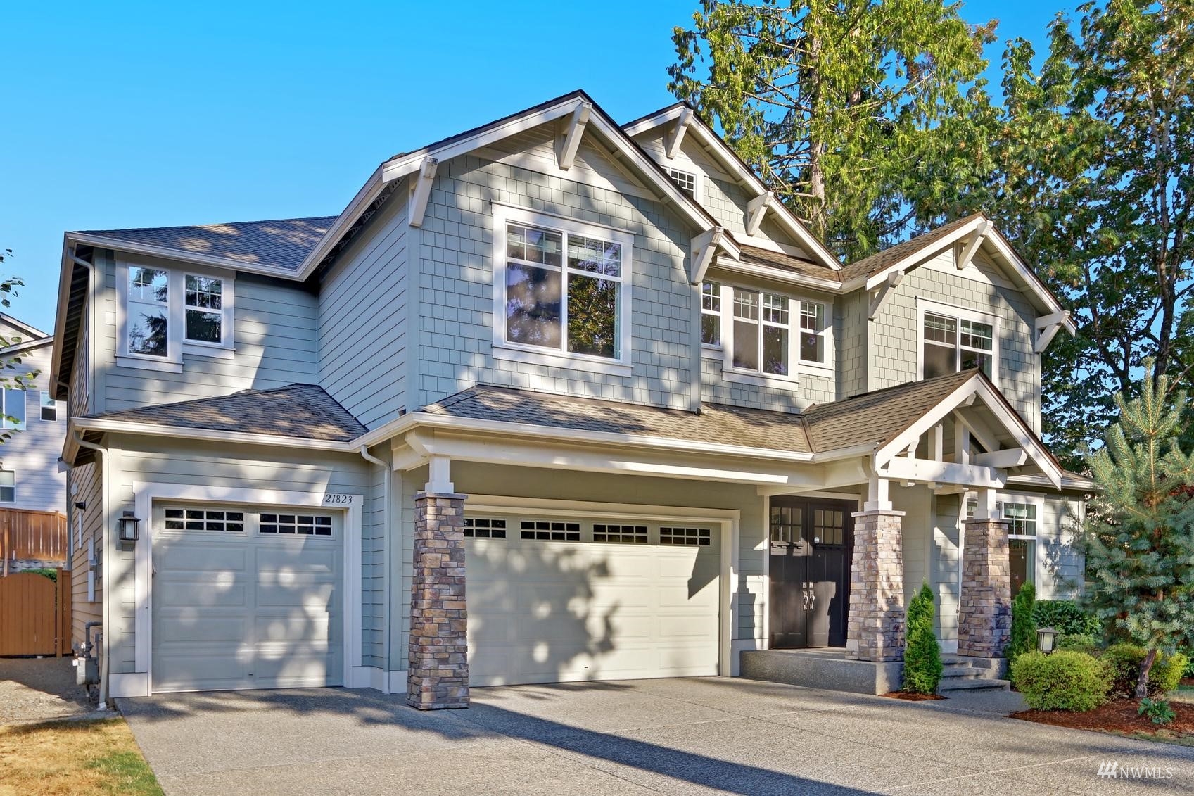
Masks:
[[[857,661],[904,660],[904,512],[854,515],[847,655]]]

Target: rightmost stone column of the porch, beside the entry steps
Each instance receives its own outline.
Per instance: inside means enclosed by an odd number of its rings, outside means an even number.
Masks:
[[[958,599],[958,654],[1003,657],[1011,633],[1008,523],[966,520]]]

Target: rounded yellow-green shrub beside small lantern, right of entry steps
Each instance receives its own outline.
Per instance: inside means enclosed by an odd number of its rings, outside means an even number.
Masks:
[[[1023,653],[1011,665],[1011,682],[1036,710],[1094,710],[1112,688],[1108,668],[1093,655],[1060,650]]]

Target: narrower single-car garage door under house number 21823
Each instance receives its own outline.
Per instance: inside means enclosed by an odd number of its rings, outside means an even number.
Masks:
[[[155,506],[153,690],[341,685],[338,513]]]

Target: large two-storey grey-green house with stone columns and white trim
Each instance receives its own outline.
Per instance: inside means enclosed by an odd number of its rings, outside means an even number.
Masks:
[[[842,264],[684,105],[573,92],[336,216],[66,234],[51,368],[103,688],[997,656],[1081,572],[1040,431],[1070,316],[979,215]],[[1010,553],[1009,553],[1010,549]],[[1009,575],[1010,567],[1010,575]]]

